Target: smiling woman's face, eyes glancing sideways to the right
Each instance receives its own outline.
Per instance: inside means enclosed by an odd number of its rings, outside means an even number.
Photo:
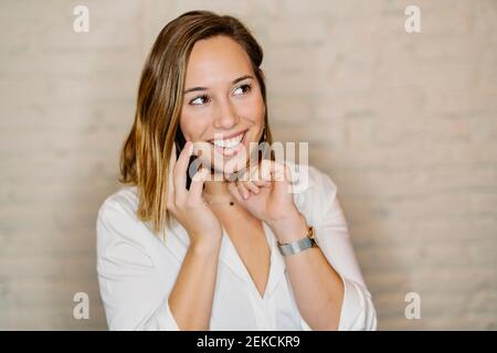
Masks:
[[[187,66],[180,128],[216,172],[243,168],[263,133],[265,106],[243,47],[228,36],[194,44]],[[252,150],[250,150],[252,148]],[[200,151],[200,152],[199,152]]]

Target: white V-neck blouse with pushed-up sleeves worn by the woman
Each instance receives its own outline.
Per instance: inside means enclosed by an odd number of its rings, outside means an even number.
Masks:
[[[290,168],[298,179],[295,204],[314,226],[315,238],[345,285],[339,330],[376,330],[377,314],[350,243],[331,179],[313,167]],[[305,171],[305,172],[304,172]],[[303,175],[304,178],[300,178]],[[180,223],[159,238],[136,216],[136,186],[124,186],[101,206],[96,222],[97,272],[110,330],[179,330],[168,304],[189,246]],[[220,249],[211,330],[311,330],[300,315],[276,238],[263,223],[271,245],[264,296],[224,231]],[[202,293],[199,293],[201,296]]]

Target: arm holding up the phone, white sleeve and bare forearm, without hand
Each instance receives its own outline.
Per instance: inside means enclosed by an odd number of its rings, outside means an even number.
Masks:
[[[149,236],[144,234],[149,229],[130,210],[114,201],[104,203],[96,229],[98,282],[110,330],[209,328],[218,266],[215,246],[192,244],[179,274],[168,274],[171,281],[177,276],[176,282],[166,287],[139,240]]]

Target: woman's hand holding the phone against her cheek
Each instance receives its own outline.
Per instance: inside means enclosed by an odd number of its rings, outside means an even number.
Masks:
[[[167,210],[188,232],[190,245],[219,245],[223,236],[221,223],[202,199],[203,183],[210,175],[210,171],[205,168],[200,169],[192,176],[190,190],[187,190],[187,172],[192,153],[193,143],[187,141],[176,160],[176,146],[172,145]]]

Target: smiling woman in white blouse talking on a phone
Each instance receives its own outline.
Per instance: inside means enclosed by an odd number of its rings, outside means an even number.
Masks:
[[[273,142],[262,58],[212,12],[157,38],[121,153],[128,185],[97,218],[112,330],[376,329],[336,185],[255,148]]]

